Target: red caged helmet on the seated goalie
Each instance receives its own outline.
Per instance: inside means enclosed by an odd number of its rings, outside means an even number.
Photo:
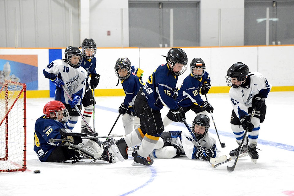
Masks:
[[[49,101],[43,108],[43,114],[47,119],[55,119],[65,123],[69,118],[69,113],[65,105],[60,101]]]

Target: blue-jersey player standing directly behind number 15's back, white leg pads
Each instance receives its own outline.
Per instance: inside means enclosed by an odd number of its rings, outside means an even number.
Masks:
[[[135,115],[133,106],[138,91],[145,84],[131,71],[131,62],[128,58],[117,59],[114,70],[126,94],[124,102],[119,107],[119,113],[123,115],[123,127],[127,135],[140,127],[140,119]]]

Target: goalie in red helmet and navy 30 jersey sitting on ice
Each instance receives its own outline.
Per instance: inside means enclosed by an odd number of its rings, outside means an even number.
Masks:
[[[48,102],[43,108],[43,113],[44,115],[36,120],[34,143],[34,151],[41,162],[64,162],[70,159],[77,162],[83,156],[115,163],[115,156],[109,152],[114,140],[83,140],[82,137],[86,137],[87,134],[71,132],[66,126],[69,113],[62,102]],[[62,138],[68,138],[69,141],[50,142],[52,139]]]

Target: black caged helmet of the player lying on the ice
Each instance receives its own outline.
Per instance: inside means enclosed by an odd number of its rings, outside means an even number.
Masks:
[[[195,125],[198,125],[196,127],[196,130],[195,130]],[[203,138],[205,134],[208,132],[209,126],[210,126],[209,117],[205,114],[198,114],[192,123],[192,131],[197,138]]]

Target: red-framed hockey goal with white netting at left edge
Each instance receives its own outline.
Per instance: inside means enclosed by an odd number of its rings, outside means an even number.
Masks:
[[[0,90],[0,172],[26,168],[26,84],[6,80]]]

